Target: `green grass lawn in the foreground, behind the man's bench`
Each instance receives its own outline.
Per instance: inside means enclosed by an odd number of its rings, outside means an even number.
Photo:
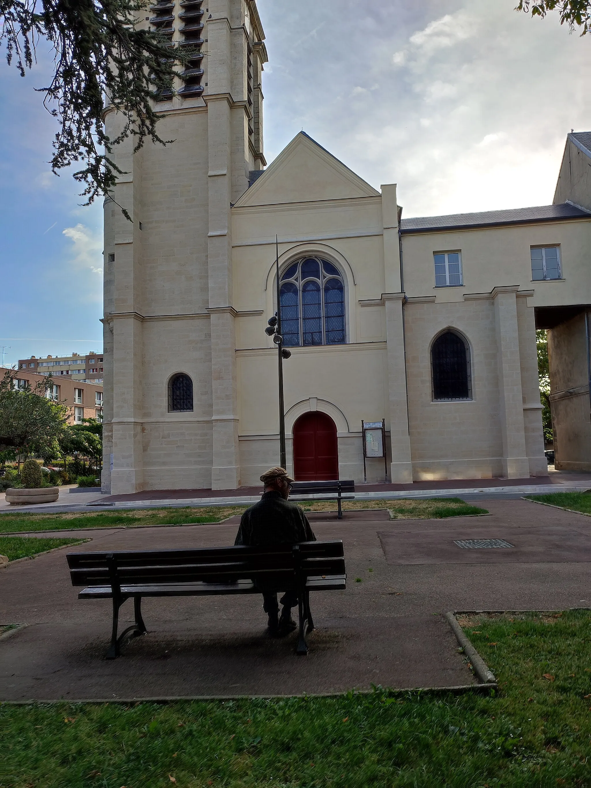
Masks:
[[[461,621],[489,696],[0,707],[10,788],[591,785],[591,615]],[[589,763],[587,760],[589,759]]]

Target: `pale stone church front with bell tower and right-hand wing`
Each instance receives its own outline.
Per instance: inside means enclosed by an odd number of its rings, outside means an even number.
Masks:
[[[175,142],[117,151],[133,223],[106,200],[103,489],[236,489],[278,463],[276,237],[296,478],[363,481],[382,418],[368,481],[545,475],[536,320],[591,303],[589,208],[406,218],[396,185],[303,132],[267,166],[254,0],[152,10],[203,58],[157,104]]]

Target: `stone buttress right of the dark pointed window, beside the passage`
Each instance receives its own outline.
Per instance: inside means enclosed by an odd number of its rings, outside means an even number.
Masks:
[[[499,406],[503,440],[503,475],[509,479],[529,478],[523,422],[521,360],[516,292],[519,287],[494,288],[496,358],[499,375]]]

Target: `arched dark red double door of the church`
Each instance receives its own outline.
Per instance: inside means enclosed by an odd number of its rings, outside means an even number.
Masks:
[[[293,426],[293,470],[297,481],[339,478],[336,425],[321,411],[305,413]]]

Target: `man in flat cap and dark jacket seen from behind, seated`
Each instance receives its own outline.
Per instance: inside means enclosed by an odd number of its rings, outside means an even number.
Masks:
[[[251,506],[240,519],[235,545],[296,545],[301,541],[316,541],[306,515],[297,504],[288,503],[293,479],[284,468],[269,468],[262,474],[265,485],[261,500]],[[298,604],[296,591],[285,591],[281,597],[281,618],[277,604],[277,589],[257,581],[262,593],[262,608],[269,616],[269,632],[283,636],[296,629],[292,608]]]

